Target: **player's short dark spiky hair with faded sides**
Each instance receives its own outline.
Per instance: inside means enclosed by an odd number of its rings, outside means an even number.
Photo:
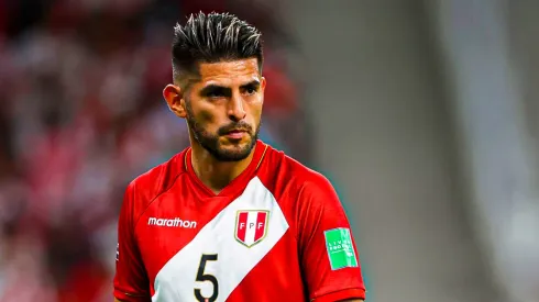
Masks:
[[[173,75],[198,74],[199,63],[256,58],[262,72],[260,31],[231,13],[191,14],[185,25],[176,24],[173,41]]]

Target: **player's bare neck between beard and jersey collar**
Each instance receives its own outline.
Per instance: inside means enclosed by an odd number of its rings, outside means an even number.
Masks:
[[[227,184],[243,172],[253,159],[254,149],[251,154],[239,161],[217,160],[208,150],[198,143],[191,144],[191,165],[197,177],[213,193],[218,194]]]

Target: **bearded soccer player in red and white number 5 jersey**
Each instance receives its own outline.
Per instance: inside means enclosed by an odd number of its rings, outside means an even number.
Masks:
[[[228,13],[176,25],[163,96],[190,147],[133,180],[118,226],[114,301],[362,301],[331,183],[257,139],[261,33]]]

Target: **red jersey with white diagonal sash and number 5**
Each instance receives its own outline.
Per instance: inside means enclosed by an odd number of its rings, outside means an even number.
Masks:
[[[256,143],[219,194],[190,148],[130,183],[118,226],[120,301],[364,299],[358,250],[331,183]]]

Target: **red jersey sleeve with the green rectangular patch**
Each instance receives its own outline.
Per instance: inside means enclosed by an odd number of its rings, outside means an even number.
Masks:
[[[321,175],[299,192],[301,270],[315,302],[365,299],[358,249],[339,198]]]

